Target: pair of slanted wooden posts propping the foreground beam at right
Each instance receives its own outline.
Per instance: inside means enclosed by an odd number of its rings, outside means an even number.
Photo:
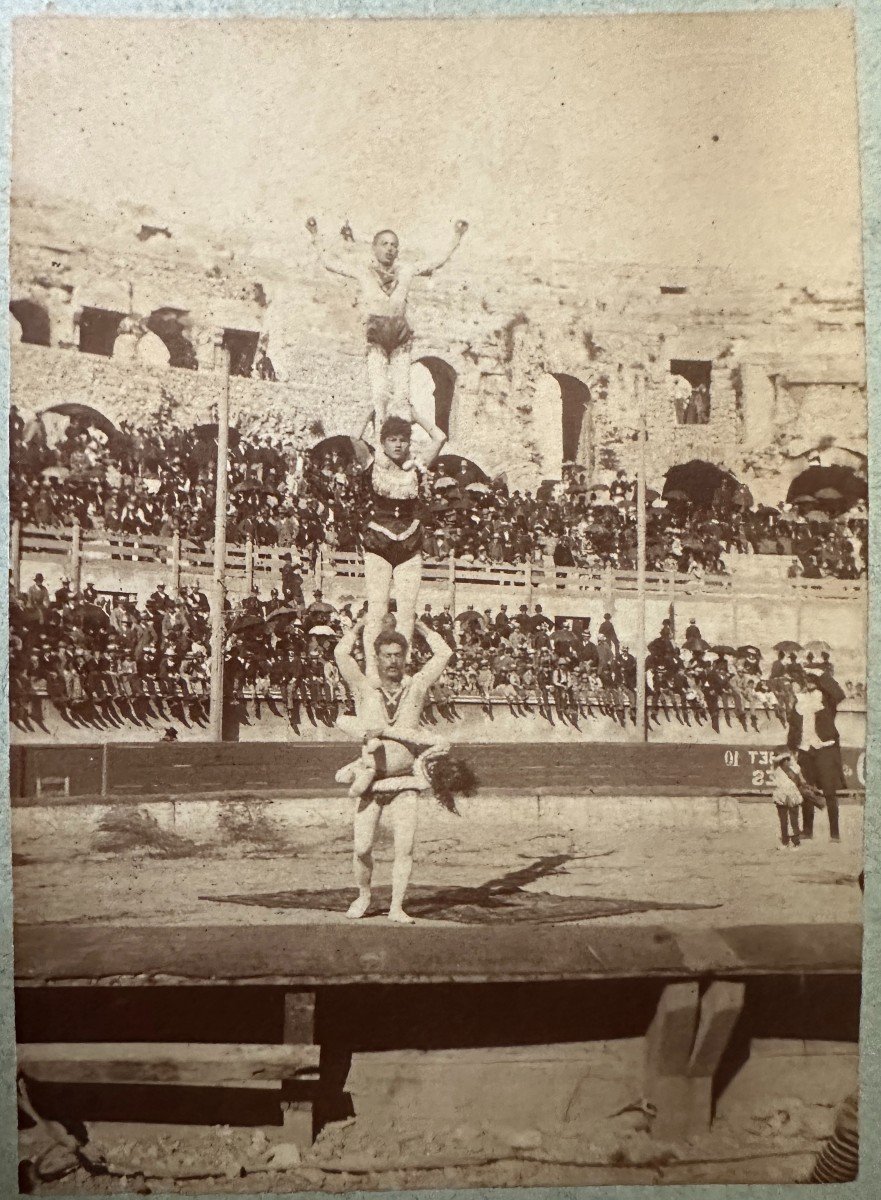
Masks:
[[[743,1010],[744,990],[742,983],[717,980],[702,997],[696,982],[669,984],[661,992],[646,1034],[645,1080],[659,1140],[709,1129],[713,1076]]]

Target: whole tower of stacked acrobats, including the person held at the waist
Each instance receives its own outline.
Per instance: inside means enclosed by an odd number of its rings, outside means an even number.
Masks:
[[[358,430],[364,438],[373,428],[377,450],[364,469],[365,532],[364,582],[367,612],[337,643],[335,658],[355,702],[355,715],[338,724],[361,740],[361,752],[342,767],[336,780],[348,784],[355,799],[354,874],[358,895],[347,916],[364,917],[371,904],[373,846],[379,820],[388,811],[395,858],[391,874],[389,920],[413,925],[403,908],[413,869],[418,802],[421,793],[455,811],[457,794],[468,796],[475,781],[467,763],[451,756],[449,742],[427,739],[420,718],[428,689],[437,683],[453,650],[422,622],[415,620],[422,577],[421,504],[426,497],[426,470],[443,448],[447,434],[422,420],[410,402],[413,330],[407,320],[407,299],[418,276],[432,275],[461,242],[468,226],[457,221],[453,245],[439,259],[400,263],[398,240],[382,229],[372,240],[372,257],[358,256],[348,223],[342,229],[346,250],[335,256],[322,244],[314,217],[306,222],[322,265],[358,284],[358,310],[366,337],[368,409]],[[410,452],[410,434],[419,425],[428,437],[421,456]],[[395,594],[396,613],[390,612]],[[414,630],[431,656],[415,673],[407,673]],[[355,659],[362,638],[364,668]]]

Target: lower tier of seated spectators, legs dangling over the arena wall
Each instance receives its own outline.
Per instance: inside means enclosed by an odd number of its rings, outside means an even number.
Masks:
[[[227,708],[247,720],[269,706],[295,727],[332,725],[350,710],[334,646],[362,611],[354,598],[341,598],[338,608],[320,592],[307,600],[295,568],[269,596],[254,588],[228,605]],[[610,613],[595,631],[587,618],[552,620],[541,605],[516,612],[468,606],[457,614],[426,605],[421,616],[455,649],[432,690],[430,714],[454,719],[457,706],[472,702],[487,716],[501,703],[515,715],[570,724],[595,714],[635,720],[636,659]],[[74,593],[62,580],[49,590],[37,574],[10,596],[10,634],[11,718],[24,728],[44,728],[44,700],[71,725],[208,719],[210,610],[197,586],[173,596],[160,583],[139,607],[133,596],[101,595],[91,583]],[[756,647],[712,646],[694,622],[678,640],[665,622],[646,660],[649,718],[709,721],[717,730],[720,718],[744,728],[757,728],[761,713],[783,721],[792,680],[805,667],[834,667],[828,648],[793,643],[777,653],[769,664]],[[420,662],[416,641],[412,670]]]

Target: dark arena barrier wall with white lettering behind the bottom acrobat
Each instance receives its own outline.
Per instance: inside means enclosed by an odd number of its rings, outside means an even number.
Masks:
[[[742,794],[771,787],[771,749],[756,739],[681,743],[474,743],[456,745],[486,792],[522,794]],[[344,742],[16,745],[13,803],[77,797],[137,799],[206,793],[338,794],[334,773],[353,756]],[[845,744],[845,785],[865,788],[863,743]],[[478,800],[479,803],[479,794]]]

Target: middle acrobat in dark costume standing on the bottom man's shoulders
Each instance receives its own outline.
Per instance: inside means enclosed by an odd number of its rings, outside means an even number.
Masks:
[[[408,406],[409,407],[409,406]],[[394,588],[397,630],[407,646],[413,638],[419,586],[422,580],[422,522],[425,468],[437,458],[447,440],[443,430],[422,421],[409,407],[413,421],[431,438],[421,462],[410,458],[410,421],[389,416],[379,431],[379,448],[365,469],[364,586],[367,626],[364,653],[374,670],[373,644],[389,611]]]

